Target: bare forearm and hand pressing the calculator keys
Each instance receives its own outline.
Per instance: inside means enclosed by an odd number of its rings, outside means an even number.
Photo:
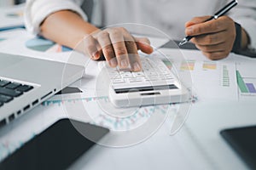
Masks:
[[[138,49],[146,54],[153,52],[148,38],[132,37],[122,27],[100,30],[70,10],[50,14],[40,29],[41,35],[54,42],[88,54],[92,59],[104,54],[110,66],[131,71],[140,71],[142,67]]]

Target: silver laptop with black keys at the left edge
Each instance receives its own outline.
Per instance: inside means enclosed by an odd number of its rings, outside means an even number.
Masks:
[[[83,72],[80,65],[0,53],[0,127],[75,82]]]

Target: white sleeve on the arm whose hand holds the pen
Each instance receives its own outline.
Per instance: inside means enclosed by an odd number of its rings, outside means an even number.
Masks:
[[[230,10],[230,17],[247,31],[251,47],[256,49],[256,1],[239,0],[238,5]]]

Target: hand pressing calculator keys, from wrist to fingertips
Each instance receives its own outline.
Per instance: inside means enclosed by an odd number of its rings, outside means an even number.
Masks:
[[[108,65],[131,71],[141,71],[137,50],[140,49],[146,54],[151,54],[153,48],[148,38],[132,37],[123,27],[111,27],[105,30],[96,31],[84,37],[85,53],[91,59],[99,59],[103,54]]]

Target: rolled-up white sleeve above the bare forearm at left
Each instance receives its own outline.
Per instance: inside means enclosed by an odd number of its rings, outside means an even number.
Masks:
[[[44,19],[56,11],[69,9],[80,14],[84,20],[87,16],[79,7],[81,0],[26,0],[26,8],[24,14],[25,26],[27,31],[38,34],[40,24]]]

